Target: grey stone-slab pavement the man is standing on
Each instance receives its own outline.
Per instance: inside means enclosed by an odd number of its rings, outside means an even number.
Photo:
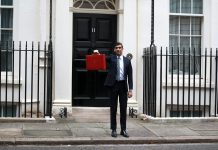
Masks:
[[[217,119],[158,121],[142,118],[128,116],[129,138],[119,134],[116,138],[111,137],[109,116],[106,115],[77,116],[77,119],[0,119],[0,145],[218,143]],[[117,120],[119,133],[119,116]]]

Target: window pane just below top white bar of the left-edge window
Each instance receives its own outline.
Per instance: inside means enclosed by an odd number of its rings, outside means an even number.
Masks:
[[[1,9],[1,28],[13,27],[13,10]]]

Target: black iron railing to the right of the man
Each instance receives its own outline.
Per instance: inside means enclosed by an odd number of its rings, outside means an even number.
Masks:
[[[208,52],[209,51],[209,52]],[[217,49],[144,50],[143,113],[154,117],[217,116]]]

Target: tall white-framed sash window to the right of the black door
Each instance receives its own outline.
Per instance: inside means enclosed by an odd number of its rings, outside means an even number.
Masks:
[[[170,0],[170,20],[169,20],[169,53],[170,57],[169,71],[173,74],[198,74],[199,61],[193,56],[201,53],[201,28],[203,0]],[[189,68],[189,50],[190,50],[190,68]],[[177,59],[178,54],[183,57]],[[172,58],[173,57],[173,58]],[[195,64],[195,65],[193,65]],[[184,69],[183,69],[184,65]],[[179,66],[179,68],[178,68]]]

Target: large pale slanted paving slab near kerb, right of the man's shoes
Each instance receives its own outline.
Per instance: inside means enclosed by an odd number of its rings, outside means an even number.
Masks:
[[[190,130],[187,127],[182,126],[146,126],[151,132],[158,136],[197,136],[199,135],[197,132]]]

